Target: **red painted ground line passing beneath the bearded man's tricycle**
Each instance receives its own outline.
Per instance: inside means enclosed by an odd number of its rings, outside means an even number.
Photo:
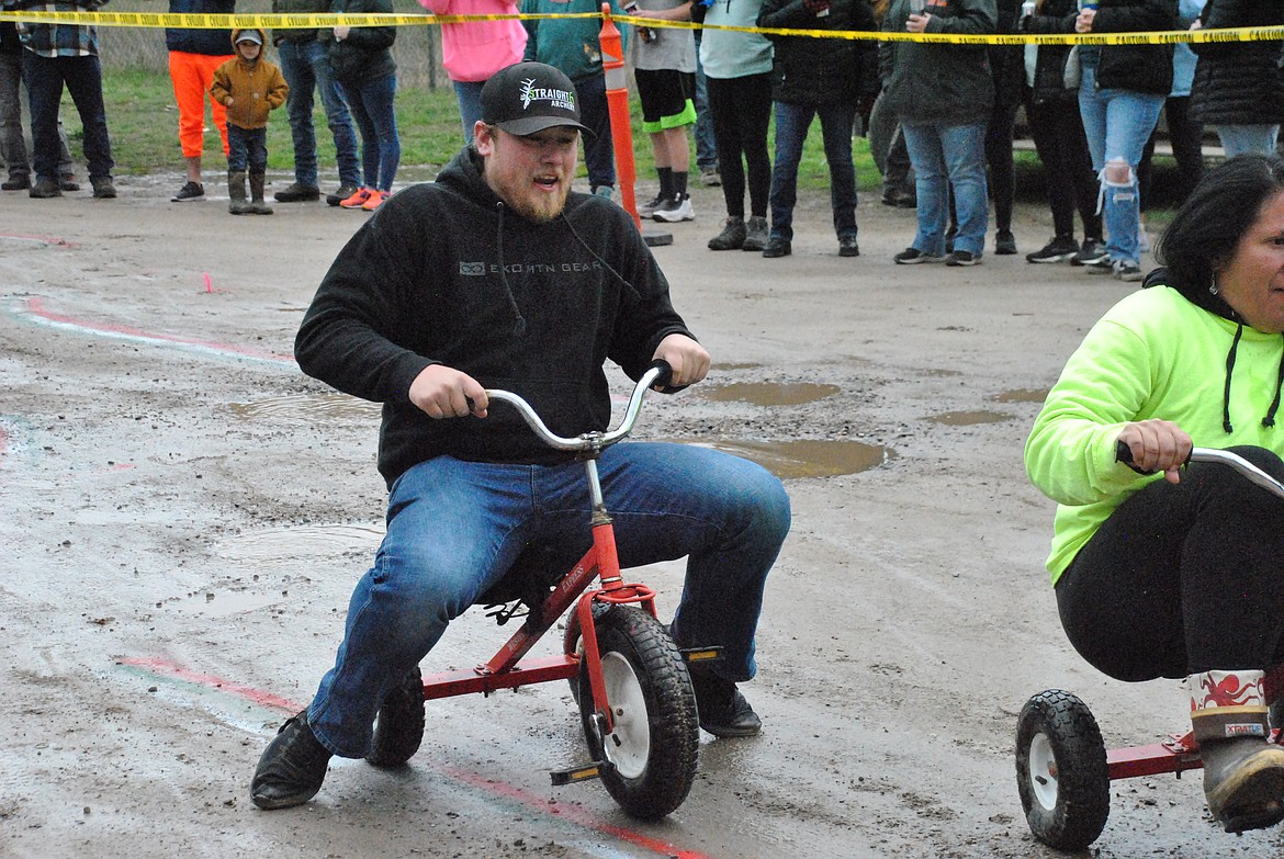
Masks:
[[[132,665],[135,668],[143,668],[157,674],[167,674],[169,677],[177,677],[178,679],[187,681],[189,683],[196,683],[199,686],[205,686],[209,688],[216,688],[222,692],[230,692],[238,697],[245,698],[247,701],[253,701],[254,704],[276,707],[286,713],[298,713],[303,707],[293,701],[282,698],[271,692],[263,692],[262,690],[256,690],[249,686],[241,686],[240,683],[231,683],[220,677],[213,677],[211,674],[200,674],[199,672],[193,672],[181,665],[176,665],[169,660],[160,659],[159,656],[131,656],[127,659],[118,660],[121,665]],[[492,794],[498,794],[499,796],[521,803],[532,809],[543,811],[550,817],[557,817],[564,820],[570,820],[578,826],[587,829],[594,829],[603,835],[612,836],[620,841],[627,841],[643,850],[650,850],[651,853],[659,854],[661,856],[672,856],[673,859],[711,859],[711,856],[697,853],[695,850],[679,850],[666,841],[660,841],[659,838],[651,838],[642,835],[641,832],[633,832],[632,829],[625,829],[624,827],[615,826],[614,823],[606,823],[593,817],[592,813],[575,809],[568,805],[560,805],[551,803],[546,799],[535,796],[529,791],[524,791],[514,785],[503,785],[492,778],[479,776],[478,773],[470,773],[467,770],[457,769],[455,767],[443,767],[447,774],[451,777],[473,785],[474,787],[483,788]]]

